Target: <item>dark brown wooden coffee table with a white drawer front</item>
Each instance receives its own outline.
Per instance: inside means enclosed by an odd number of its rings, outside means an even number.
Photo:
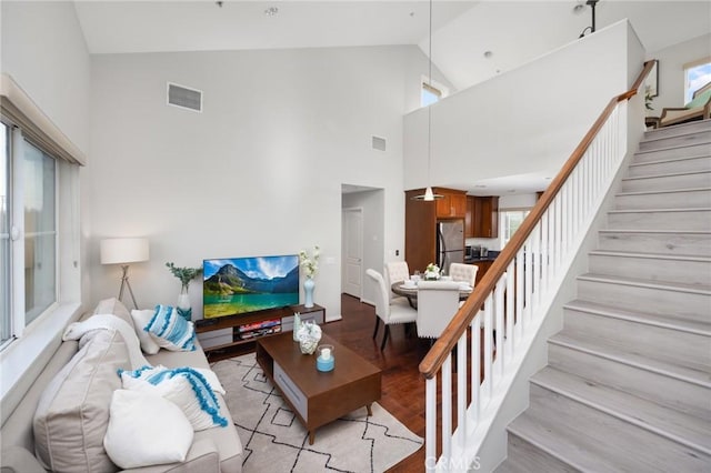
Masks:
[[[362,406],[372,415],[380,399],[380,369],[326,334],[320,343],[333,345],[332,371],[318,371],[316,353],[302,354],[291,332],[257,341],[257,362],[306,426],[310,445],[318,427]]]

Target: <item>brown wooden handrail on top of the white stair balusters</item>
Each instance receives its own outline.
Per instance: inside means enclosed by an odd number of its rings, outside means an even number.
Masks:
[[[602,110],[600,117],[598,117],[588,133],[585,133],[585,135],[583,137],[582,141],[580,141],[580,144],[578,144],[578,147],[573,150],[572,154],[570,155],[570,158],[568,158],[568,161],[565,161],[565,164],[563,164],[558,175],[553,179],[545,192],[543,192],[543,195],[541,195],[539,201],[531,209],[531,212],[528,214],[525,220],[523,220],[521,227],[519,227],[511,240],[507,243],[501,253],[493,261],[491,268],[489,268],[481,281],[474,286],[474,290],[469,299],[467,299],[467,302],[464,302],[464,304],[459,309],[457,315],[454,315],[450,324],[442,332],[442,335],[437,340],[428,354],[420,362],[420,373],[425,379],[434,378],[440,371],[442,363],[444,362],[449,353],[454,349],[457,341],[464,334],[471,321],[479,313],[484,304],[484,300],[493,291],[497,281],[501,279],[521,246],[523,246],[523,243],[529,238],[538,222],[541,220],[541,217],[545,213],[551,202],[553,202],[553,199],[555,198],[555,195],[558,195],[558,192],[561,190],[580,160],[583,158],[585,151],[588,150],[588,147],[590,147],[592,140],[602,129],[602,125],[610,118],[617,104],[619,102],[622,102],[623,100],[630,100],[637,94],[637,91],[642,85],[642,82],[644,81],[647,76],[651,72],[653,66],[653,60],[644,62],[644,68],[632,84],[632,88],[624,93],[613,97],[607,104],[607,107]]]

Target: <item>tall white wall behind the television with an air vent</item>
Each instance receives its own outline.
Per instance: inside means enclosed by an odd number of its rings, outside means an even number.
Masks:
[[[402,248],[402,114],[424,71],[417,47],[93,57],[92,299],[119,285],[102,238],[150,239],[150,262],[131,266],[141,306],[174,302],[167,261],[319,244],[314,301],[340,315],[341,183],[384,189],[382,245]],[[167,81],[202,90],[204,111],[166,105]],[[201,318],[200,283],[190,290]]]

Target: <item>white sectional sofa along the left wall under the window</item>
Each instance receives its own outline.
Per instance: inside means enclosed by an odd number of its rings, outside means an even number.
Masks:
[[[101,301],[93,311],[93,314],[107,313],[114,314],[124,321],[131,321],[129,311],[116,299]],[[84,320],[93,314],[86,315]],[[92,343],[92,346],[87,348],[86,345],[89,343]],[[16,392],[11,396],[6,396],[9,399],[2,400],[3,423],[0,431],[2,473],[49,471],[43,467],[40,460],[43,459],[44,465],[47,465],[48,455],[56,455],[58,459],[62,456],[57,460],[56,465],[58,466],[54,466],[54,471],[91,473],[121,471],[108,457],[102,447],[102,440],[109,423],[110,401],[108,399],[114,390],[121,388],[121,378],[118,374],[116,376],[111,374],[116,373],[117,368],[132,369],[129,363],[129,350],[126,345],[127,343],[118,332],[111,332],[94,338],[90,342],[82,340],[81,353],[80,342],[63,341],[50,356],[44,356],[44,360],[49,361],[44,363],[38,361],[38,365],[33,366],[33,372],[37,375],[27,392]],[[87,354],[87,350],[92,353]],[[78,360],[81,358],[80,355],[83,355],[83,359]],[[146,359],[152,365],[209,369],[207,358],[199,345],[196,351],[161,349],[156,354],[146,355]],[[33,424],[42,393],[48,389],[57,388],[57,378],[61,378],[61,375],[58,376],[58,373],[69,371],[62,370],[68,363],[73,364],[71,370],[73,375],[79,373],[72,380],[84,380],[72,381],[79,384],[76,386],[67,386],[68,381],[63,381],[64,399],[70,400],[70,403],[79,402],[81,404],[79,413],[76,410],[74,412],[57,413],[52,419],[51,429],[46,427],[47,435],[38,436],[37,439],[40,440],[36,442],[37,426]],[[52,382],[52,380],[54,381]],[[50,386],[50,382],[52,382],[52,386]],[[107,391],[109,397],[107,397]],[[154,464],[123,471],[136,473],[240,473],[242,471],[242,445],[224,399],[219,393],[216,395],[220,405],[220,414],[227,419],[227,425],[194,432],[192,444],[183,462]],[[68,440],[67,432],[72,432],[72,429],[78,434],[74,437],[69,435]],[[56,433],[58,435],[54,441]],[[170,436],[171,432],[164,434]],[[152,442],[146,443],[152,444]],[[72,449],[73,451],[70,452]],[[73,459],[77,461],[74,462]]]

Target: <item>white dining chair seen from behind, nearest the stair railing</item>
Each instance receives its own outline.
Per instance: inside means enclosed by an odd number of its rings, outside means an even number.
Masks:
[[[418,283],[418,336],[439,339],[459,310],[459,282]]]

